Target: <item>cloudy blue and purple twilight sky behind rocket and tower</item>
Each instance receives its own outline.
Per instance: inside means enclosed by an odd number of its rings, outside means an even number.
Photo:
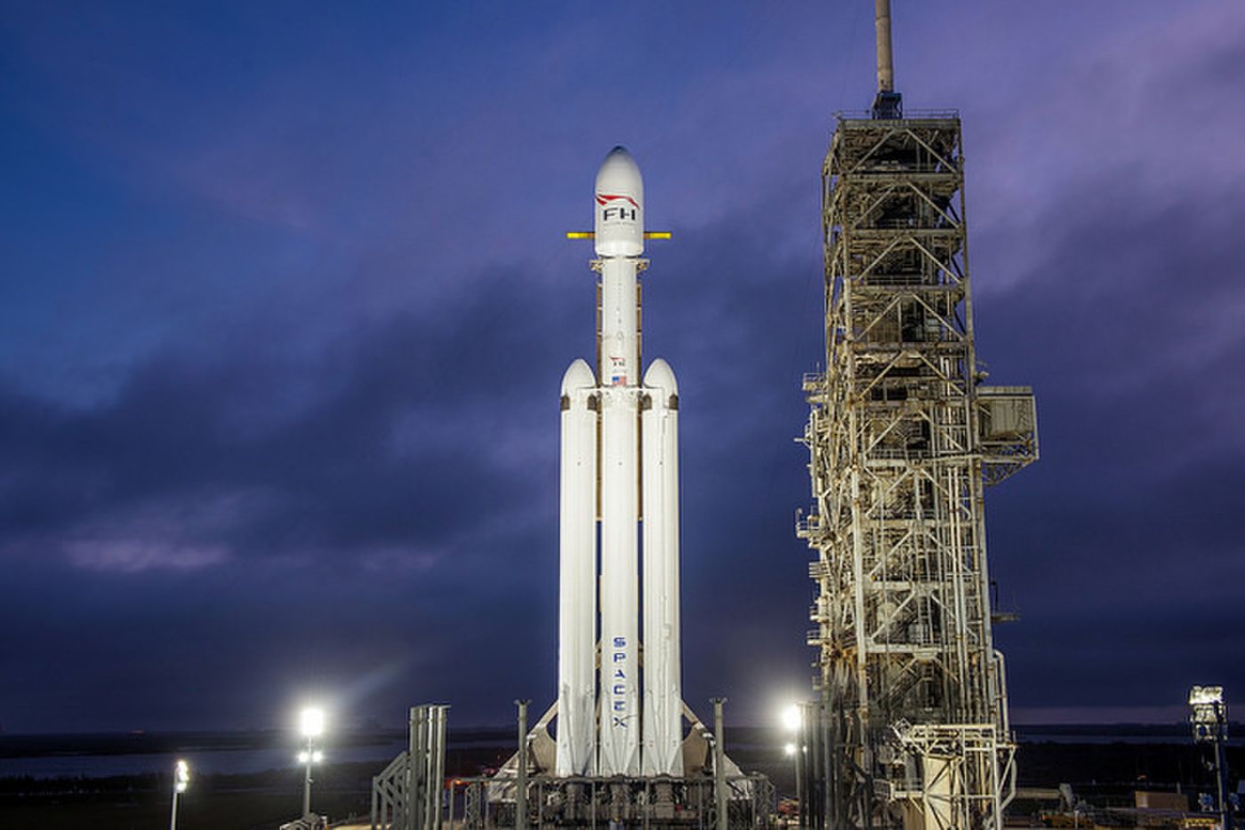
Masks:
[[[285,725],[554,698],[558,383],[596,166],[679,373],[688,702],[806,694],[799,377],[868,0],[0,14],[0,724]],[[1245,701],[1245,5],[895,0],[964,118],[979,353],[1042,460],[987,494],[1017,720]]]

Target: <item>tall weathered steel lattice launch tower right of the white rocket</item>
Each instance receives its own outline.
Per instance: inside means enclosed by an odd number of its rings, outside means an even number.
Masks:
[[[984,387],[959,114],[838,114],[825,372],[804,378],[835,828],[998,828],[1015,781],[982,489],[1037,459],[1028,387]]]

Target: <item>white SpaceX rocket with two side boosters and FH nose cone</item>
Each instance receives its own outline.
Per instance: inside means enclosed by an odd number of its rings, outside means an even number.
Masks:
[[[679,387],[661,358],[640,383],[644,182],[626,149],[595,200],[596,376],[576,360],[561,381],[557,774],[682,775]]]

